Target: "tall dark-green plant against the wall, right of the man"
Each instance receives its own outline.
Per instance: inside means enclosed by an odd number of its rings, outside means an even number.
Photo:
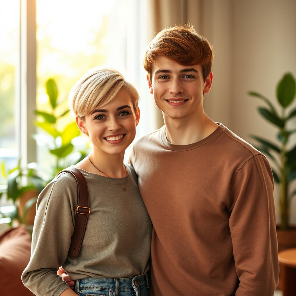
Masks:
[[[267,108],[258,107],[258,112],[264,119],[278,128],[276,135],[277,143],[255,135],[251,135],[251,137],[259,143],[255,148],[265,154],[274,164],[272,168],[274,182],[279,184],[281,188],[279,196],[281,224],[278,226],[282,230],[281,232],[293,229],[289,223],[289,218],[290,205],[293,197],[296,195],[295,186],[294,188],[292,187],[292,181],[296,178],[296,145],[290,149],[287,147],[289,139],[296,132],[296,129],[288,128],[287,124],[296,116],[296,108],[289,112],[286,109],[295,100],[295,89],[295,78],[291,73],[284,74],[276,88],[280,112],[262,94],[255,91],[248,92],[250,96],[255,96],[266,103]],[[280,240],[279,236],[278,232],[278,240]],[[292,238],[291,231],[289,231],[289,236]],[[295,244],[296,247],[296,235],[294,235],[294,239],[295,242],[292,242],[292,244]]]

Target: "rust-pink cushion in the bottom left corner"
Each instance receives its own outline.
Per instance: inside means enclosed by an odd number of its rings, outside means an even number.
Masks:
[[[0,234],[1,295],[33,296],[21,280],[30,260],[31,236],[24,226],[10,228]]]

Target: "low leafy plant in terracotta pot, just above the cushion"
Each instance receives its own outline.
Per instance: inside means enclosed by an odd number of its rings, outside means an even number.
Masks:
[[[27,168],[21,168],[19,160],[15,168],[7,171],[4,161],[1,164],[2,176],[7,179],[6,198],[12,200],[15,205],[13,212],[5,215],[1,213],[3,217],[11,219],[10,226],[13,221],[17,221],[30,229],[34,223],[37,197],[46,184],[37,176],[32,165],[28,164]],[[3,193],[0,193],[0,197]]]

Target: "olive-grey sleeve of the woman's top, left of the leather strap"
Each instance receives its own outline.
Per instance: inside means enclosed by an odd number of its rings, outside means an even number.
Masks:
[[[67,259],[76,204],[77,184],[69,173],[57,176],[38,197],[31,258],[22,274],[24,285],[37,296],[59,296],[69,288],[57,270]]]

